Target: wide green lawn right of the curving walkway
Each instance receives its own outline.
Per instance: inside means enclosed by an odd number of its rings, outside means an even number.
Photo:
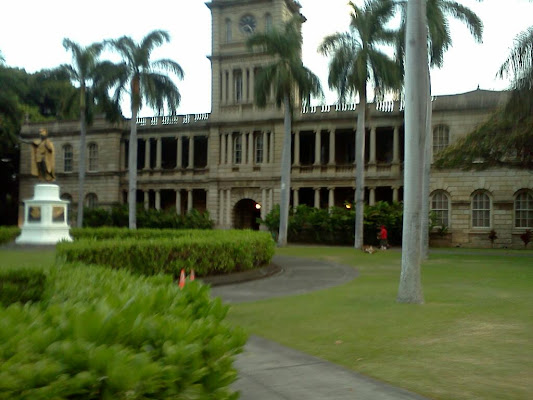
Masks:
[[[424,305],[395,302],[401,255],[289,247],[278,254],[353,265],[333,289],[234,305],[257,334],[435,399],[533,395],[533,258],[433,254]],[[525,253],[523,253],[525,254]]]

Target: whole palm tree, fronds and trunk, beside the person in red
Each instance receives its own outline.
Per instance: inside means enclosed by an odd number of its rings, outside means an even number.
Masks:
[[[379,47],[393,43],[394,33],[385,24],[394,13],[394,3],[390,0],[367,0],[363,8],[353,2],[350,31],[327,36],[319,47],[319,52],[331,56],[328,84],[336,89],[342,100],[359,94],[357,131],[355,143],[355,243],[363,246],[364,217],[364,156],[365,118],[367,107],[367,83],[374,86],[375,98],[385,91],[398,89],[401,75],[397,63]]]

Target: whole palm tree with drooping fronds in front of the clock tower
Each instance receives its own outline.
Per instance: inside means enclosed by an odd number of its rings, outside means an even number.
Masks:
[[[291,127],[293,109],[299,99],[322,96],[320,80],[302,63],[301,16],[295,16],[281,29],[271,29],[250,36],[248,48],[260,49],[275,61],[263,67],[256,75],[255,100],[265,107],[270,93],[278,107],[284,110],[284,136],[281,154],[281,201],[278,245],[287,245],[289,200],[291,190]],[[299,93],[299,99],[295,94]]]

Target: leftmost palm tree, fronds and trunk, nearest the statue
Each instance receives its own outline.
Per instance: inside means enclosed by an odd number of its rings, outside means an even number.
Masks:
[[[63,47],[72,53],[72,65],[63,65],[63,69],[67,72],[70,80],[79,85],[80,95],[80,161],[78,170],[78,216],[76,223],[81,228],[83,226],[83,200],[85,197],[87,113],[94,106],[94,92],[97,90],[94,84],[99,80],[101,74],[101,63],[98,57],[104,48],[104,44],[93,43],[87,47],[83,47],[70,39],[64,39]]]

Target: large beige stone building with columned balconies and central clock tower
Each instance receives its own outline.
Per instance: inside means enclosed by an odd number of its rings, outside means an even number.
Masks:
[[[279,203],[283,112],[254,104],[254,76],[271,60],[245,47],[253,31],[268,30],[299,13],[293,0],[212,0],[212,111],[139,118],[137,201],[146,208],[208,210],[216,227],[257,229],[256,217]],[[433,152],[485,121],[505,92],[476,90],[433,99]],[[353,203],[356,104],[304,107],[293,120],[291,204],[328,208]],[[79,122],[45,124],[56,148],[56,176],[64,199],[77,204]],[[26,125],[35,137],[43,124]],[[88,207],[127,203],[129,121],[95,120],[87,132]],[[366,132],[365,201],[403,199],[403,105],[370,104]],[[20,198],[31,197],[28,146],[21,154]],[[488,247],[522,245],[533,229],[531,171],[432,170],[430,209],[446,226],[435,242]]]

